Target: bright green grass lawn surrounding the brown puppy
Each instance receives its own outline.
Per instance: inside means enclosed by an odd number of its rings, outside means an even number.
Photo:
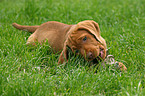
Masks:
[[[0,0],[0,95],[145,95],[145,0]],[[13,22],[99,23],[110,54],[128,71],[89,67],[72,57],[57,65],[59,54],[45,44],[26,46],[30,33]]]

